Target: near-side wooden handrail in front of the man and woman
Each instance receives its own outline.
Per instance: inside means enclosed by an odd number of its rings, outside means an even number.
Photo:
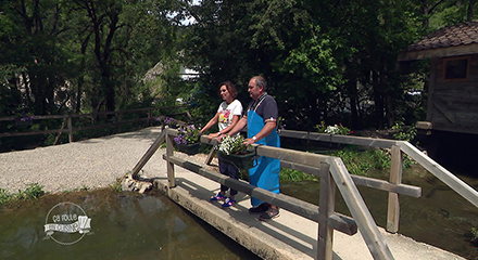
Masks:
[[[167,176],[169,187],[174,187],[176,185],[174,177],[174,165],[179,165],[181,167],[186,166],[185,168],[190,170],[196,169],[194,172],[197,173],[206,172],[202,170],[201,167],[191,167],[193,164],[189,161],[183,164],[181,160],[174,156],[173,139],[174,136],[177,136],[177,130],[166,129],[166,154],[164,155],[164,158],[168,161]],[[216,140],[209,140],[206,135],[201,136],[201,142],[212,145],[217,144]],[[334,225],[331,225],[330,217],[335,216],[336,186],[339,187],[339,191],[342,194],[342,197],[344,198],[349,210],[354,217],[354,220],[356,220],[357,227],[361,231],[361,234],[364,237],[364,240],[366,242],[367,247],[374,259],[393,259],[390,248],[388,247],[387,243],[378,231],[378,226],[376,225],[372,213],[368,211],[368,208],[366,207],[365,202],[363,200],[356,185],[354,184],[351,174],[349,173],[345,166],[343,165],[343,161],[339,157],[257,144],[254,144],[253,146],[256,150],[256,154],[260,156],[277,158],[280,160],[290,161],[292,164],[300,164],[316,168],[316,173],[318,173],[320,177],[320,203],[318,207],[318,221],[320,221],[320,224],[317,239],[317,259],[332,258]],[[189,167],[187,167],[188,165]],[[204,176],[207,177],[206,174]],[[217,179],[214,178],[210,179],[217,181]],[[228,185],[252,196],[259,195],[257,192],[255,194],[252,194],[252,191],[262,190],[259,187],[253,187],[251,191],[249,191],[239,185],[236,186],[235,180],[230,181]],[[264,202],[275,204],[279,207],[286,206],[284,208],[288,210],[291,209],[290,204],[288,204],[287,200],[282,200],[280,198],[285,195],[268,194],[268,192],[264,190],[262,190],[260,194],[260,199]]]

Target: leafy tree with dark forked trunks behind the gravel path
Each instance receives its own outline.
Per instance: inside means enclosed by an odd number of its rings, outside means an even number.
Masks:
[[[77,53],[80,104],[83,91],[93,110],[106,110],[136,102],[146,72],[175,53],[175,26],[166,16],[171,3],[163,1],[75,0],[73,34]],[[98,88],[100,87],[100,88]],[[79,108],[77,108],[79,110]]]

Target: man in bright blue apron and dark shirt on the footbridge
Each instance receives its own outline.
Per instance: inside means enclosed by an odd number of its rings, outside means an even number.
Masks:
[[[248,126],[248,139],[244,144],[263,144],[275,147],[280,146],[279,135],[276,131],[278,108],[277,103],[266,92],[267,82],[264,77],[251,78],[248,86],[249,95],[252,101],[249,103],[247,114],[239,120],[236,127],[228,133],[234,135]],[[252,185],[279,193],[280,160],[261,156],[257,158],[257,166],[249,169],[249,182]],[[250,213],[260,213],[260,220],[265,221],[279,217],[279,208],[251,197],[252,208]]]

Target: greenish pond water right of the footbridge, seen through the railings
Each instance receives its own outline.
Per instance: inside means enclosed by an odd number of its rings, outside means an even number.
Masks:
[[[399,233],[467,259],[478,259],[478,247],[470,242],[471,227],[478,227],[478,209],[438,182],[432,178],[423,180],[420,198],[401,196]],[[419,185],[417,181],[413,184]],[[314,181],[282,182],[280,191],[318,205],[318,186]],[[362,186],[358,191],[375,222],[385,227],[388,193]],[[351,216],[338,194],[336,211]]]

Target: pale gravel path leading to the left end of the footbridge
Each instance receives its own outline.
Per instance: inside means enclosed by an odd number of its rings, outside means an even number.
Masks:
[[[47,192],[99,188],[113,184],[130,171],[160,135],[153,127],[81,142],[0,154],[0,187],[9,192],[25,190],[29,183]],[[143,167],[142,176],[164,176],[166,164],[160,148]],[[186,156],[178,153],[177,156]],[[194,156],[203,162],[206,155]],[[192,157],[192,156],[191,156]],[[177,167],[177,170],[184,170]]]

